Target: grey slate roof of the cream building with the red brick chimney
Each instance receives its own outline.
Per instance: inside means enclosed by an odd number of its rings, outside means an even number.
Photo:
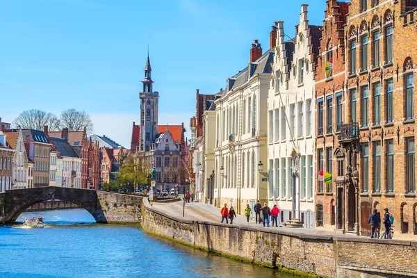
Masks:
[[[256,65],[256,70],[252,74],[252,76],[256,74],[268,74],[272,72],[271,63],[274,61],[274,49],[269,49],[266,51],[258,60],[254,62]],[[235,79],[234,85],[231,88],[231,90],[234,90],[241,85],[245,84],[247,81],[249,81],[250,77],[250,68],[245,67],[245,69],[241,70],[234,76],[232,76],[232,79]],[[222,94],[224,95],[224,94]]]

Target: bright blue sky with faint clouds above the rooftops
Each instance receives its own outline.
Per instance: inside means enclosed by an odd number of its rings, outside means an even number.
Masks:
[[[76,108],[129,147],[149,44],[159,124],[189,129],[195,89],[224,88],[275,21],[293,36],[302,3],[321,25],[325,0],[0,0],[0,117]]]

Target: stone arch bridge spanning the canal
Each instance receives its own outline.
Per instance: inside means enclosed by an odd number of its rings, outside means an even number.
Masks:
[[[140,222],[141,196],[47,186],[0,193],[0,224],[14,222],[26,208],[48,200],[77,204],[85,208],[97,223]]]

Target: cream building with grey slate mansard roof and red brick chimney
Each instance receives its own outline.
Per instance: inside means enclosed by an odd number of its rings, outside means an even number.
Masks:
[[[221,97],[215,100],[215,206],[234,206],[242,214],[268,197],[268,183],[261,181],[259,161],[266,161],[268,108],[273,51],[262,54],[252,44],[250,63],[227,80]]]

